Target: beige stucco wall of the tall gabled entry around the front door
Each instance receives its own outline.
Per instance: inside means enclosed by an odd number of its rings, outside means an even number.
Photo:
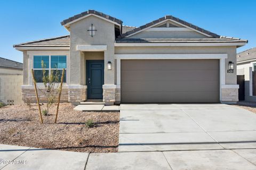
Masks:
[[[89,27],[93,24],[97,31],[91,37]],[[70,25],[70,84],[84,84],[84,53],[77,51],[77,45],[107,45],[104,52],[105,80],[104,84],[114,84],[114,68],[107,70],[107,62],[114,63],[115,25],[95,16],[74,22]],[[81,64],[82,63],[82,64]],[[77,76],[80,75],[80,76]]]

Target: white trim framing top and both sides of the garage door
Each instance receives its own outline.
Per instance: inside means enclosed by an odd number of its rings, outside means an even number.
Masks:
[[[220,60],[220,101],[221,88],[226,85],[225,59],[228,54],[115,54],[116,85],[121,87],[121,60],[191,60],[191,59],[219,59]]]

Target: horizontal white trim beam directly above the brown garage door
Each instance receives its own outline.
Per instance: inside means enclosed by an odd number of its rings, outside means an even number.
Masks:
[[[227,59],[228,54],[115,54],[115,59]]]

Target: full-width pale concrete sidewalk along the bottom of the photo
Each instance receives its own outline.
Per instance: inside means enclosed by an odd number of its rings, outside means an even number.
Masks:
[[[10,162],[6,162],[9,161]],[[256,149],[81,153],[0,144],[0,169],[256,169]]]

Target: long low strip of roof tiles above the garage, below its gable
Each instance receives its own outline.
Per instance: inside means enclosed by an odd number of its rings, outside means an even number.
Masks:
[[[238,38],[125,38],[116,39],[116,43],[241,43]]]

